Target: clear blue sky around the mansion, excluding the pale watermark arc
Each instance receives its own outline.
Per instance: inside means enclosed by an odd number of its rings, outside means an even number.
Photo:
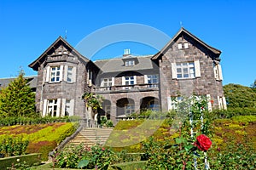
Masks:
[[[173,37],[182,26],[222,51],[224,85],[250,86],[256,79],[256,1],[253,0],[0,0],[0,77],[15,77],[20,67],[44,53],[59,36],[73,47],[105,26],[137,23]],[[118,32],[117,32],[118,33]],[[134,42],[110,45],[93,59],[123,54],[154,54],[157,50]]]

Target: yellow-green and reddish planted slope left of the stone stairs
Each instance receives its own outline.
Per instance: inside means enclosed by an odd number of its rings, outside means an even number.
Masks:
[[[67,136],[73,134],[76,127],[77,124],[71,122],[0,127],[0,144],[4,139],[22,137],[22,140],[31,141],[26,151],[28,153],[43,153],[42,160],[46,161],[49,151],[53,150]]]

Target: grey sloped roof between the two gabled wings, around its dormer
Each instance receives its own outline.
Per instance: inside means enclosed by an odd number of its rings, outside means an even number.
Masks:
[[[154,68],[154,63],[151,58],[153,55],[146,56],[131,56],[130,59],[137,59],[137,64],[133,66],[125,66],[125,58],[117,59],[102,59],[96,60],[94,63],[101,68],[102,72],[117,72],[117,71],[137,71],[137,70],[148,70]]]

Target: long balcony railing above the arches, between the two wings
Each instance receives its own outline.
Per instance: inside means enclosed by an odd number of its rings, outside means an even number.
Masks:
[[[132,85],[117,85],[110,87],[93,87],[92,92],[96,94],[116,94],[116,93],[131,93],[144,91],[158,91],[158,83],[152,84],[132,84]]]

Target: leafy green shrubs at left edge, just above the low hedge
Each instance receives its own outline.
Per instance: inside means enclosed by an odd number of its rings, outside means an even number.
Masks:
[[[0,142],[0,154],[3,156],[20,156],[26,154],[28,140],[20,138],[7,137]]]

